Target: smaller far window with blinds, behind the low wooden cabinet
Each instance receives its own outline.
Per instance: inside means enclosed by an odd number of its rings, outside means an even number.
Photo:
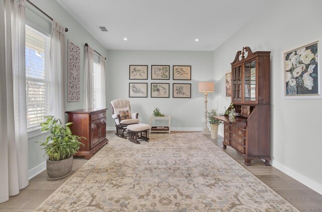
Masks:
[[[101,67],[100,63],[97,61],[93,62],[93,87],[94,87],[94,94],[93,94],[93,100],[94,100],[94,108],[100,108],[102,105],[102,99],[100,98],[102,96],[102,78],[101,78]]]

